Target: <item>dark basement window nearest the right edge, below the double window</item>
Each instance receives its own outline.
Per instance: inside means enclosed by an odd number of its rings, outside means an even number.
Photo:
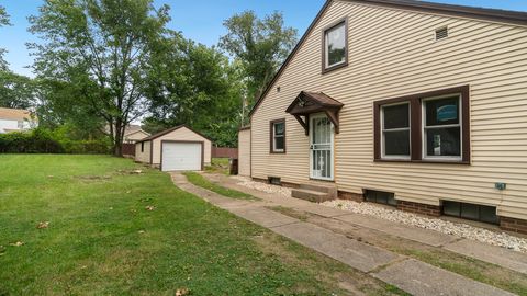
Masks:
[[[500,221],[494,206],[444,201],[442,214],[490,224],[498,224]]]

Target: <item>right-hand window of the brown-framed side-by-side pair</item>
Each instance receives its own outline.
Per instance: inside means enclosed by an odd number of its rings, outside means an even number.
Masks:
[[[460,96],[423,101],[425,158],[461,159]]]

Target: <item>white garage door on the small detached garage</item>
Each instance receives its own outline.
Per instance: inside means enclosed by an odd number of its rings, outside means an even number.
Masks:
[[[162,171],[200,171],[201,143],[162,143]]]

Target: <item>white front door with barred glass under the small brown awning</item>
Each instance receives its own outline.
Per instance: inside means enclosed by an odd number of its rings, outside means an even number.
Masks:
[[[312,179],[333,180],[333,124],[325,114],[310,116],[310,173]]]

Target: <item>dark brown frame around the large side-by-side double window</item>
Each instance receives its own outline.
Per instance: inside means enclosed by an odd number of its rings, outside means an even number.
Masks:
[[[461,160],[448,160],[445,158],[430,159],[423,156],[423,123],[422,123],[422,100],[448,95],[460,94],[461,96]],[[381,143],[381,107],[394,103],[410,103],[410,159],[386,159],[382,158]],[[373,102],[373,140],[374,140],[374,161],[377,162],[422,162],[422,163],[458,163],[470,164],[470,87],[462,86],[450,89],[442,89],[425,93],[417,93],[394,99],[388,99]]]

